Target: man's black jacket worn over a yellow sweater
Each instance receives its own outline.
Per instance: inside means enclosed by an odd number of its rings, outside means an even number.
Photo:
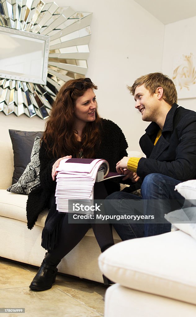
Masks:
[[[146,158],[139,160],[137,174],[142,179],[151,173],[180,181],[196,178],[196,112],[173,104],[154,146],[159,129],[152,122],[139,141]]]

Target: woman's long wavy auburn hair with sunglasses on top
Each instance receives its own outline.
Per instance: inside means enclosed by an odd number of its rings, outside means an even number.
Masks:
[[[82,90],[74,87],[78,81],[84,83]],[[97,86],[83,78],[69,80],[60,88],[42,138],[48,152],[52,152],[54,157],[68,154],[78,157],[80,146],[74,130],[74,107],[78,97],[83,96],[89,88],[97,89]],[[86,123],[81,136],[84,158],[94,158],[95,146],[101,143],[100,125],[101,118],[96,108],[95,120]]]

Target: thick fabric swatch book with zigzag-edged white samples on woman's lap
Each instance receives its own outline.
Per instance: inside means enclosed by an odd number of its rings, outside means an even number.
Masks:
[[[69,199],[91,200],[93,204],[94,184],[98,171],[104,176],[109,164],[104,159],[63,159],[57,168],[56,204],[57,210],[68,212]]]

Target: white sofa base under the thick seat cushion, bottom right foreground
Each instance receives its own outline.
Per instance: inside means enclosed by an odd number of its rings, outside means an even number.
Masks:
[[[196,306],[114,284],[105,294],[105,317],[195,317]]]

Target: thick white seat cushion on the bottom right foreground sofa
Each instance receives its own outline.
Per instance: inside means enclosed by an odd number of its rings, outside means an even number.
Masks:
[[[125,287],[196,304],[196,240],[178,230],[117,243],[99,267]]]

